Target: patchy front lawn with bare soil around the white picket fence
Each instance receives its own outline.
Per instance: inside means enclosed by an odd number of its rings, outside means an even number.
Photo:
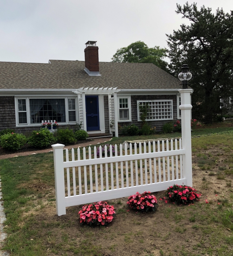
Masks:
[[[226,131],[195,133],[216,129]],[[178,206],[158,200],[154,214],[135,214],[126,212],[127,198],[111,200],[117,215],[108,228],[80,226],[80,206],[56,216],[52,152],[0,160],[8,234],[3,249],[19,256],[233,255],[233,135],[194,138],[192,151],[200,202]],[[154,194],[158,199],[163,193]]]

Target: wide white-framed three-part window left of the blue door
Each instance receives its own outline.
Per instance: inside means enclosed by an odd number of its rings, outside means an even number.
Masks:
[[[18,125],[40,125],[42,120],[76,122],[75,98],[16,98]]]

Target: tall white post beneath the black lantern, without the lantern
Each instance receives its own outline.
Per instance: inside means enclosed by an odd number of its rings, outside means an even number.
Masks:
[[[186,179],[186,186],[192,187],[192,146],[191,146],[191,109],[190,94],[192,89],[179,90],[181,96],[181,131],[182,131],[182,149],[185,149],[183,155],[183,177]]]

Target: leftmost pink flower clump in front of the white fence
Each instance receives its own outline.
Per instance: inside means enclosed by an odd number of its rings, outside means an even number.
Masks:
[[[108,205],[107,202],[98,202],[89,205],[84,205],[82,210],[78,212],[80,215],[80,223],[88,225],[107,225],[115,216],[113,205]]]

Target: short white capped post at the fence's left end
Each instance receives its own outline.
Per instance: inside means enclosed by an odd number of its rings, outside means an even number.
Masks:
[[[56,211],[57,215],[66,214],[65,204],[65,177],[64,177],[64,159],[63,159],[63,144],[54,144],[53,159],[54,159],[54,176],[55,176],[55,194],[56,194]]]

